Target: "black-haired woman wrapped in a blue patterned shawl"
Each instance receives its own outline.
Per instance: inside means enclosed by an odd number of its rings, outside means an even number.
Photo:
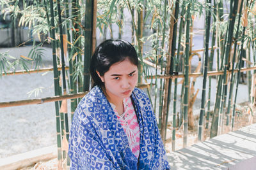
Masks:
[[[138,56],[123,40],[106,40],[92,56],[93,89],[70,130],[71,169],[170,169],[150,100],[138,81]]]

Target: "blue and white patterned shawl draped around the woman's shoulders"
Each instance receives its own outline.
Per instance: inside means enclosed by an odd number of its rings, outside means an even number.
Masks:
[[[95,86],[77,106],[70,129],[70,169],[170,169],[152,105],[145,92],[131,95],[140,125],[139,159],[102,90]]]

